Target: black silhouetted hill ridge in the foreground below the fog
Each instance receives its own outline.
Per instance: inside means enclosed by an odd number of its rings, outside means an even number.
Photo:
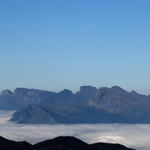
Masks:
[[[0,150],[133,150],[120,144],[87,144],[75,137],[57,137],[35,145],[0,137]]]

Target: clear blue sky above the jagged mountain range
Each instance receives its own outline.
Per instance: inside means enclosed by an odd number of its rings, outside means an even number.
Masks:
[[[0,0],[0,90],[119,85],[150,93],[149,0]]]

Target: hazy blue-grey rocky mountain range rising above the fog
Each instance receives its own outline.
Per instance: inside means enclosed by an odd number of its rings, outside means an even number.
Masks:
[[[81,86],[76,93],[4,90],[0,109],[16,110],[11,120],[18,123],[150,123],[150,96],[119,86]]]

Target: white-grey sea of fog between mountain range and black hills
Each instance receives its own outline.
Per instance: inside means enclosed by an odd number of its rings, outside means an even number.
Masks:
[[[0,111],[0,136],[30,143],[57,136],[75,136],[88,143],[120,143],[137,150],[150,149],[150,125],[141,124],[78,124],[27,125],[8,121],[13,112]]]

